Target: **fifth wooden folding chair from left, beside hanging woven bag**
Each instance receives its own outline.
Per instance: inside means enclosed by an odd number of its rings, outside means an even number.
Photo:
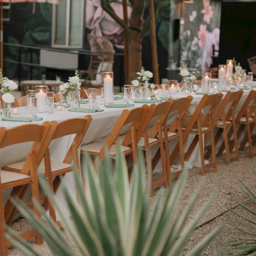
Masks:
[[[170,110],[166,119],[164,121],[164,149],[166,156],[166,171],[168,175],[168,182],[171,180],[170,173],[170,155],[169,155],[169,143],[172,140],[178,139],[179,150],[180,150],[180,163],[181,169],[184,169],[185,160],[184,160],[184,148],[183,148],[183,131],[181,126],[181,119],[184,116],[190,102],[192,101],[192,96],[187,96],[186,98],[180,99],[168,99],[169,102],[172,102]],[[172,123],[167,127],[167,118],[173,116]]]

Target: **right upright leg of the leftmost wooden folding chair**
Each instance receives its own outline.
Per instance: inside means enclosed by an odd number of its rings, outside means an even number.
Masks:
[[[37,172],[36,172],[36,155],[34,151],[31,151],[30,153],[30,177],[31,177],[31,191],[32,191],[32,197],[40,203],[40,196],[39,196],[39,189],[38,189],[38,180],[37,180]],[[35,204],[33,203],[33,211],[36,217],[40,219],[40,212],[36,208]],[[36,237],[36,244],[41,245],[42,244],[42,238],[40,236]]]

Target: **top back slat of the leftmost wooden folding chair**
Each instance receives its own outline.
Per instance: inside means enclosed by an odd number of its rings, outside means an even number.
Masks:
[[[40,142],[45,127],[38,124],[25,124],[11,129],[0,128],[4,133],[0,142],[0,148],[23,142]]]

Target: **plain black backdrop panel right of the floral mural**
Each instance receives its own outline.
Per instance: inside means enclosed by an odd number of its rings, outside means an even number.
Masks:
[[[248,71],[247,59],[255,55],[256,2],[223,2],[219,63],[235,57]]]

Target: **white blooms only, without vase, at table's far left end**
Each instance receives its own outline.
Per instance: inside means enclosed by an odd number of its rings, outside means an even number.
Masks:
[[[0,83],[2,84],[2,88],[1,88],[2,99],[6,103],[14,102],[14,97],[12,96],[11,91],[17,89],[18,85],[13,80],[9,80],[7,77],[4,77],[1,69],[0,69]]]

